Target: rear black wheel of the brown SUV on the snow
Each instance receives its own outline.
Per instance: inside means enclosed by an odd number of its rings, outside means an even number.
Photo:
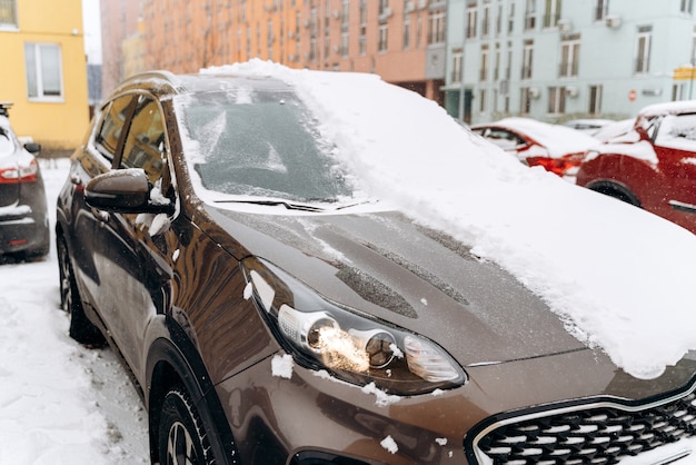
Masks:
[[[57,250],[60,276],[60,308],[70,315],[70,337],[87,346],[101,347],[106,344],[106,340],[99,328],[84,315],[64,238],[60,237],[58,239]]]

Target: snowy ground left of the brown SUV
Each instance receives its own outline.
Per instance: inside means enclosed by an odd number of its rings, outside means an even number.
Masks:
[[[43,161],[51,224],[68,160]],[[147,412],[108,349],[68,337],[56,250],[0,263],[0,464],[149,463]]]

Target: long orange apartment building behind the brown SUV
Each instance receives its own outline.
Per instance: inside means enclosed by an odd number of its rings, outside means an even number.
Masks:
[[[378,73],[440,103],[445,0],[125,0],[140,2],[145,68],[195,72],[252,58],[291,68]],[[102,0],[102,18],[130,23]],[[107,4],[107,7],[105,7]],[[106,10],[117,10],[106,12]],[[121,19],[119,19],[121,18]],[[113,21],[110,19],[109,21]],[[122,49],[122,26],[102,42]],[[120,57],[119,59],[123,59]],[[105,80],[105,89],[113,86]]]

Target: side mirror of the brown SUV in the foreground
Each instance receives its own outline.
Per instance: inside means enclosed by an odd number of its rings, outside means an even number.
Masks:
[[[150,184],[143,169],[115,169],[91,179],[84,187],[84,201],[98,210],[117,214],[168,214],[171,204],[150,202]]]

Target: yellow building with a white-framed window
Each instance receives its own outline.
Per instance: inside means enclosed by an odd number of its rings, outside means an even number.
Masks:
[[[74,148],[89,122],[80,0],[0,0],[0,100],[46,150]]]

